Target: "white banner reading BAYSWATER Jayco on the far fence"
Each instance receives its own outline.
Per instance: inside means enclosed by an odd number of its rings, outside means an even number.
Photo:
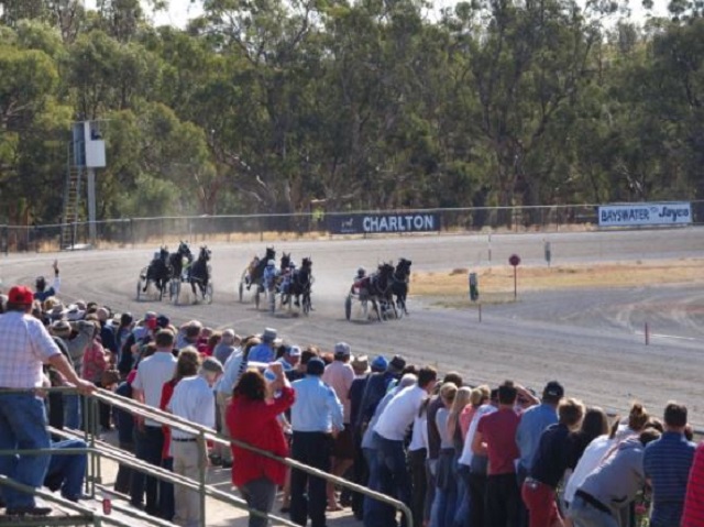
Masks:
[[[692,223],[689,202],[604,205],[598,208],[600,227],[671,226]]]

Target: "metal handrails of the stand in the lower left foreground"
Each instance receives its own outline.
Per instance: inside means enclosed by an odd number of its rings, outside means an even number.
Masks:
[[[73,388],[47,388],[47,392],[67,392],[67,391],[72,391]],[[8,392],[13,392],[12,389],[8,389],[8,388],[0,388],[0,393],[8,393]],[[221,502],[228,503],[230,505],[233,505],[235,507],[239,508],[243,508],[250,512],[250,514],[253,514],[255,516],[258,517],[265,517],[268,518],[271,520],[275,520],[278,525],[285,525],[288,527],[298,527],[297,524],[294,524],[293,521],[286,519],[286,518],[282,518],[279,516],[276,515],[272,515],[272,514],[265,514],[258,510],[254,510],[248,507],[248,504],[244,499],[239,498],[230,493],[220,491],[218,488],[215,488],[211,485],[207,484],[207,466],[205,464],[201,464],[200,470],[199,470],[199,477],[198,481],[194,481],[190,480],[188,477],[184,477],[180,476],[178,474],[175,474],[166,469],[162,469],[160,466],[155,466],[153,464],[150,464],[147,462],[138,460],[134,455],[130,454],[129,452],[123,452],[119,449],[109,449],[109,448],[103,448],[100,444],[97,443],[96,441],[96,437],[95,433],[91,433],[91,430],[95,430],[95,424],[97,422],[97,415],[98,415],[98,403],[105,403],[114,407],[118,407],[120,409],[127,410],[132,415],[135,416],[140,416],[140,417],[144,417],[144,418],[148,418],[152,419],[156,422],[158,422],[160,425],[167,425],[170,426],[172,428],[185,431],[187,433],[193,433],[194,436],[197,437],[197,442],[201,449],[201,452],[204,453],[204,455],[207,453],[207,440],[212,440],[215,442],[218,442],[220,444],[237,444],[241,448],[251,450],[260,455],[276,460],[282,462],[283,464],[289,466],[290,469],[297,469],[297,470],[301,470],[304,472],[307,472],[310,475],[317,476],[317,477],[321,477],[328,482],[332,482],[334,484],[348,487],[352,491],[359,492],[361,494],[364,494],[365,496],[369,496],[373,499],[377,499],[381,501],[387,505],[393,506],[396,509],[402,510],[403,514],[406,515],[407,518],[407,525],[408,527],[413,527],[413,516],[410,514],[410,509],[408,508],[408,506],[397,499],[394,499],[392,497],[388,497],[384,494],[371,491],[362,485],[358,485],[355,483],[349,482],[348,480],[344,480],[342,477],[338,477],[334,476],[332,474],[328,474],[327,472],[314,469],[311,466],[305,465],[302,463],[299,463],[293,459],[289,458],[280,458],[278,455],[272,454],[271,452],[267,452],[265,450],[260,450],[255,447],[252,447],[248,443],[243,443],[241,441],[238,440],[229,440],[227,438],[224,438],[223,436],[218,435],[215,430],[200,426],[200,425],[196,425],[194,422],[190,422],[186,419],[179,418],[177,416],[174,416],[173,414],[168,414],[165,411],[162,411],[160,409],[156,408],[152,408],[151,406],[146,406],[143,405],[141,403],[138,403],[136,400],[133,399],[129,399],[125,397],[121,397],[117,394],[113,394],[112,392],[108,392],[106,389],[98,389],[94,393],[92,396],[86,397],[85,400],[87,402],[87,411],[86,411],[86,435],[87,435],[87,439],[88,439],[88,448],[86,449],[66,449],[64,450],[64,452],[62,453],[66,453],[66,454],[70,454],[70,453],[79,453],[79,452],[86,452],[90,455],[90,462],[88,463],[88,477],[86,480],[86,485],[88,488],[88,492],[91,496],[96,495],[96,487],[99,487],[101,490],[106,490],[105,487],[102,487],[101,483],[102,483],[102,477],[101,477],[101,470],[100,470],[100,458],[106,458],[106,459],[110,459],[112,461],[116,461],[118,463],[122,463],[133,470],[143,472],[145,474],[148,474],[151,476],[154,476],[158,480],[163,480],[173,484],[177,484],[177,485],[183,485],[186,486],[188,488],[195,490],[199,492],[200,495],[200,509],[202,512],[201,517],[200,517],[200,525],[202,527],[206,526],[206,498],[208,496],[213,497],[216,499],[219,499]],[[64,433],[66,436],[70,436],[70,433]],[[12,450],[12,451],[0,451],[0,455],[3,454],[10,454],[10,453],[19,453],[22,452],[23,454],[55,454],[57,451],[56,450],[52,450],[52,449],[35,449],[35,450]],[[0,479],[0,485],[4,485],[4,484],[9,484],[9,485],[18,485],[19,483],[16,482],[12,482],[11,480],[6,479]],[[28,487],[29,488],[29,487]],[[28,491],[29,492],[29,491]],[[46,498],[48,501],[52,502],[58,502],[61,498],[57,498],[56,496],[54,496],[53,494],[48,494],[48,493],[43,493],[41,491],[36,492],[38,495],[42,496],[46,496]],[[41,494],[40,494],[41,493]],[[63,502],[61,502],[63,505]],[[69,502],[70,503],[70,502]],[[69,507],[70,508],[70,507]],[[147,515],[144,515],[142,513],[140,513],[139,510],[135,509],[131,509],[128,507],[124,508],[120,508],[120,510],[122,513],[132,515],[134,517],[138,517],[140,519],[143,520],[147,520],[153,523],[154,525],[162,525],[162,526],[167,526],[167,525],[172,525],[167,521],[163,521],[160,520],[158,518],[154,518]],[[105,515],[97,515],[96,518],[94,519],[95,521],[106,521],[106,523],[112,523],[114,525],[121,525],[119,523],[119,520],[112,521],[113,518],[110,518],[108,516]],[[99,524],[97,524],[99,527]]]

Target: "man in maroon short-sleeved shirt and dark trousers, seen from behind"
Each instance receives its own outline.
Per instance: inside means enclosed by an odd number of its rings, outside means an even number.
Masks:
[[[516,464],[520,452],[516,444],[516,429],[520,416],[516,413],[518,394],[531,398],[521,387],[506,381],[498,387],[498,410],[482,417],[472,440],[472,451],[488,457],[486,479],[486,525],[517,527],[520,491],[516,480]]]

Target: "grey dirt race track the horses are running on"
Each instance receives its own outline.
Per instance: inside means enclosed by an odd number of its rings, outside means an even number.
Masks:
[[[296,262],[312,257],[315,311],[309,317],[288,312],[272,317],[264,306],[257,311],[246,292],[244,301],[238,301],[242,270],[254,254],[263,254],[265,243],[210,245],[211,305],[135,300],[140,268],[156,246],[10,254],[0,260],[0,277],[6,292],[15,283],[33,284],[36,275],[51,275],[51,262],[58,257],[61,296],[66,303],[95,299],[136,316],[152,309],[177,323],[199,319],[216,328],[232,327],[242,334],[272,326],[288,342],[316,343],[323,349],[344,340],[353,353],[400,353],[441,371],[458,370],[472,384],[514,378],[539,391],[547,381],[557,378],[568,395],[610,410],[624,410],[637,398],[659,416],[667,400],[676,399],[689,406],[691,420],[702,428],[704,270],[701,279],[678,285],[521,293],[519,284],[518,300],[484,306],[481,322],[476,309],[446,309],[432,299],[413,297],[411,283],[409,317],[380,323],[365,321],[354,311],[352,321],[344,318],[344,298],[359,265],[372,268],[381,260],[405,256],[413,260],[414,272],[479,270],[504,266],[508,255],[517,253],[521,265],[544,266],[544,241],[551,243],[553,265],[637,265],[650,260],[704,257],[702,228],[494,234],[491,239],[466,234],[278,241],[274,243],[278,255],[292,252]],[[651,331],[649,345],[645,345],[645,322]]]

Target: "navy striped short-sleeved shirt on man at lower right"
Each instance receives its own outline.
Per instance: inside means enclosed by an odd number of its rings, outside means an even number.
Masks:
[[[682,433],[673,431],[666,431],[646,447],[642,464],[652,485],[651,527],[680,525],[695,448]]]

